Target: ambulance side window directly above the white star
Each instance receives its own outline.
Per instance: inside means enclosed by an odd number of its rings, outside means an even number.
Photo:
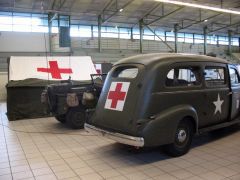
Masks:
[[[209,87],[226,84],[225,68],[223,67],[206,67],[204,77],[206,85]]]

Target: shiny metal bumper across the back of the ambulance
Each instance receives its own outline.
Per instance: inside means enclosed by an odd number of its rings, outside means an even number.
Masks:
[[[134,137],[134,136],[129,136],[129,135],[125,135],[125,134],[114,133],[114,132],[110,132],[110,131],[106,131],[106,130],[97,128],[97,127],[92,126],[87,123],[84,124],[84,128],[85,128],[85,130],[87,130],[88,132],[91,132],[92,134],[103,136],[103,137],[112,139],[112,140],[117,141],[122,144],[127,144],[127,145],[131,145],[131,146],[136,146],[136,147],[144,146],[144,138],[143,137]]]

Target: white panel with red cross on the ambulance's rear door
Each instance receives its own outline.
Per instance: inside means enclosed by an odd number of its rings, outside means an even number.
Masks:
[[[130,82],[112,82],[108,91],[105,109],[123,111]]]

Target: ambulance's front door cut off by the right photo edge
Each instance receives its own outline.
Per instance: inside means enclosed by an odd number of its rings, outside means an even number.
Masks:
[[[231,120],[239,116],[240,79],[236,66],[229,65],[229,77],[231,82]]]

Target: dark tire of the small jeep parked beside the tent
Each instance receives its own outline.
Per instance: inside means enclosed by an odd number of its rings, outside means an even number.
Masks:
[[[70,108],[67,112],[67,124],[73,129],[80,129],[84,127],[86,113],[80,107]]]

